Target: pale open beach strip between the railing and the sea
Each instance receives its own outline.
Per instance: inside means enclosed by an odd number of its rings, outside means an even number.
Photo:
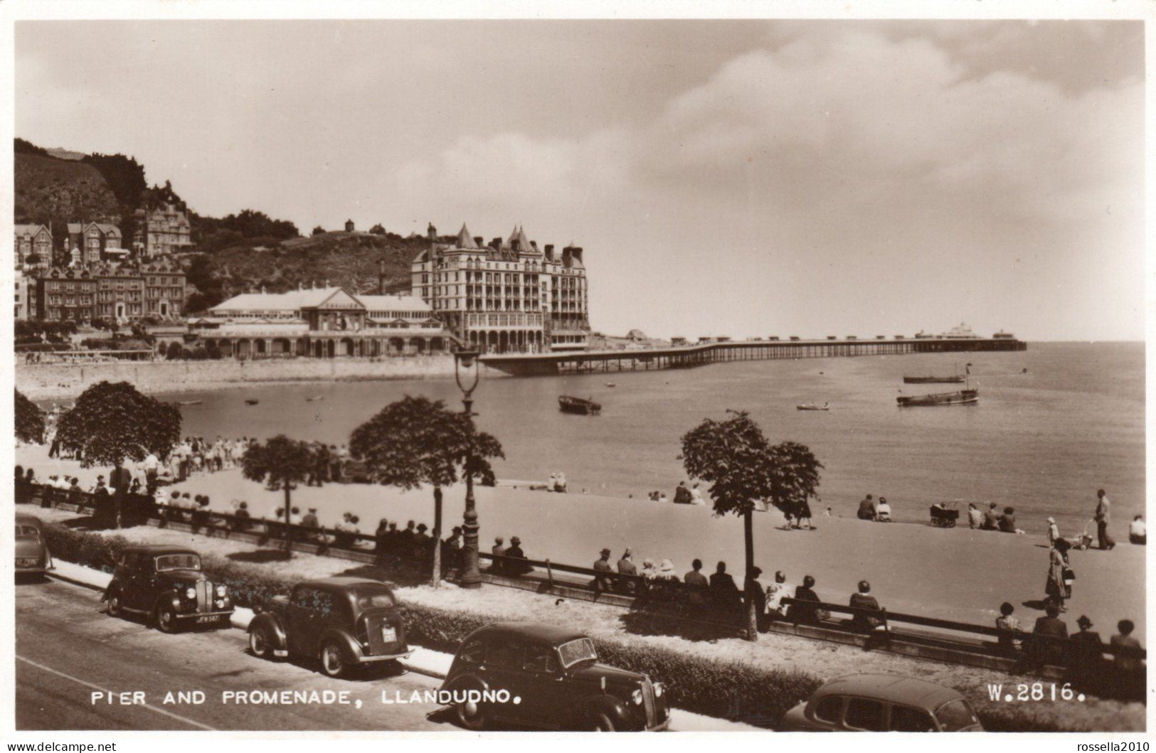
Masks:
[[[42,479],[58,472],[79,476],[86,489],[98,472],[108,474],[106,468],[81,469],[74,461],[49,460],[42,446],[17,448],[16,462],[35,468]],[[176,489],[208,494],[212,509],[220,512],[231,512],[231,500],[246,500],[254,517],[272,517],[283,500],[282,492],[245,480],[238,469],[197,476]],[[479,487],[476,497],[484,551],[495,536],[505,537],[506,543],[519,536],[529,558],[590,566],[602,546],[613,550],[614,559],[630,546],[639,566],[643,559],[668,558],[681,574],[697,557],[713,572],[721,559],[741,579],[742,522],[734,516],[714,517],[710,508],[502,486]],[[462,487],[445,490],[446,535],[461,520],[464,498]],[[407,520],[432,524],[433,519],[429,490],[328,484],[296,490],[292,504],[302,513],[318,508],[323,525],[354,513],[361,517],[363,532],[372,532],[381,517],[398,521],[399,528]],[[764,577],[783,569],[798,584],[803,575],[813,575],[820,597],[838,603],[847,601],[860,579],[867,579],[885,609],[966,622],[992,624],[1005,601],[1015,605],[1025,629],[1043,614],[1039,603],[1048,551],[1040,536],[847,517],[816,517],[814,523],[817,530],[788,531],[777,512],[755,516],[755,560]],[[1111,552],[1070,553],[1077,580],[1064,618],[1072,632],[1076,617],[1088,614],[1105,639],[1124,618],[1132,619],[1143,634],[1144,547],[1127,543],[1126,527],[1119,521],[1114,535],[1121,543]]]

